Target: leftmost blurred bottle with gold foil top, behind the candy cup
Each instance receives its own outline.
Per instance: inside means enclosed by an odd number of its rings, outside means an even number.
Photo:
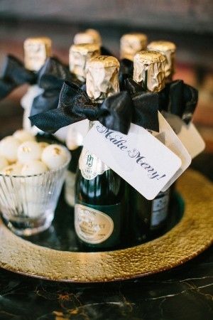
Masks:
[[[24,64],[26,69],[33,72],[38,72],[40,68],[44,65],[45,60],[50,57],[51,54],[51,40],[47,37],[41,38],[27,38],[23,43],[24,50]],[[40,130],[31,126],[31,121],[28,117],[31,114],[31,106],[33,104],[33,99],[37,95],[40,95],[43,90],[38,87],[37,84],[28,87],[26,95],[21,99],[21,106],[24,109],[23,112],[23,129],[32,132],[33,134],[38,134]]]

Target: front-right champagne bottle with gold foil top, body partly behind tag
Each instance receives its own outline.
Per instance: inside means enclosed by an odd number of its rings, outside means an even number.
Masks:
[[[148,92],[160,92],[165,87],[165,56],[157,51],[141,51],[133,60],[133,80]],[[131,188],[131,233],[134,243],[158,235],[168,217],[170,190],[160,192],[148,201]]]

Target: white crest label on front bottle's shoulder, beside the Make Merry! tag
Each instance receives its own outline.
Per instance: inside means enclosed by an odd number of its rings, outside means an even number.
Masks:
[[[87,180],[92,180],[99,174],[104,174],[104,171],[109,170],[109,166],[104,164],[101,159],[84,148],[80,155],[79,167],[82,176]]]

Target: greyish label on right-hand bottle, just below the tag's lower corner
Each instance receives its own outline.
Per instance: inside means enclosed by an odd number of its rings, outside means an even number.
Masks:
[[[151,228],[158,227],[168,215],[169,191],[160,193],[152,203]]]

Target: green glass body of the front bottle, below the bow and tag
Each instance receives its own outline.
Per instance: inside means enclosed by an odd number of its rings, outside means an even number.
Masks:
[[[83,247],[107,250],[121,245],[125,186],[97,156],[82,150],[75,183],[75,231]]]

